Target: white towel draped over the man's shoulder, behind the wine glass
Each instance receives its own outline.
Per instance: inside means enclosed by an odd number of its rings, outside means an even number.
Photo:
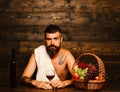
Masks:
[[[36,75],[36,80],[39,81],[49,81],[46,77],[45,72],[47,70],[54,70],[53,64],[51,62],[51,59],[46,51],[46,47],[44,45],[39,46],[34,50],[35,52],[35,59],[37,63],[37,75]],[[55,72],[55,77],[53,80],[59,80],[56,72]]]

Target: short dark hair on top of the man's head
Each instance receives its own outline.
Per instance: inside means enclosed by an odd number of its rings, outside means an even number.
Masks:
[[[56,33],[56,32],[62,33],[62,30],[60,29],[59,26],[50,24],[46,27],[44,35],[46,35],[46,33]]]

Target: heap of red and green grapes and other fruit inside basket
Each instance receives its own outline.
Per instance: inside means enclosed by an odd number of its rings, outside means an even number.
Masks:
[[[80,80],[84,80],[85,82],[88,82],[91,79],[95,79],[95,77],[98,75],[98,69],[93,64],[87,64],[80,62],[76,64],[73,68],[74,72],[79,76]],[[74,79],[77,79],[73,76]]]

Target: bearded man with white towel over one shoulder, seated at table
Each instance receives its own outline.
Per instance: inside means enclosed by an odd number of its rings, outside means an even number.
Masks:
[[[64,88],[71,85],[72,78],[67,78],[69,73],[73,74],[72,66],[75,59],[70,51],[61,47],[63,41],[61,29],[57,25],[48,25],[44,37],[45,45],[35,48],[22,74],[22,82],[42,89]],[[36,69],[36,79],[32,79]],[[55,71],[52,81],[46,77],[47,70]]]

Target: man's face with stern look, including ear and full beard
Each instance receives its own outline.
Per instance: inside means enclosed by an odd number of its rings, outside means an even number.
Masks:
[[[46,33],[45,45],[50,57],[54,57],[60,50],[62,37],[59,32]]]

